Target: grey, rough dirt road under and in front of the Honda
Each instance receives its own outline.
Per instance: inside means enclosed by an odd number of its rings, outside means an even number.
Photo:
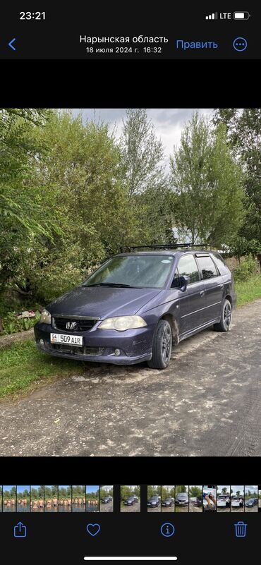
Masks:
[[[0,455],[261,455],[261,300],[228,334],[174,348],[164,371],[86,363],[16,403],[1,403]]]

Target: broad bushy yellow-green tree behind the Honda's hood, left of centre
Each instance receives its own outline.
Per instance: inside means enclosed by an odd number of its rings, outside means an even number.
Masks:
[[[92,267],[130,242],[132,212],[121,180],[121,156],[106,124],[83,124],[56,112],[39,142],[47,152],[37,182],[52,194],[62,233],[30,245],[23,277],[39,300],[49,301],[79,284]]]

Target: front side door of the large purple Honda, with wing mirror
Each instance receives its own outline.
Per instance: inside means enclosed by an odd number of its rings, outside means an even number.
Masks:
[[[190,278],[186,291],[179,290],[180,277]],[[200,280],[200,273],[193,253],[182,255],[172,286],[178,288],[179,333],[180,336],[199,328],[203,322],[205,308],[205,284]]]

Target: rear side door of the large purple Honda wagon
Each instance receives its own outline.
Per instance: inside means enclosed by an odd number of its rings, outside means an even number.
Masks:
[[[201,279],[205,285],[205,312],[204,321],[217,320],[221,314],[221,304],[224,295],[224,281],[208,253],[195,253]]]

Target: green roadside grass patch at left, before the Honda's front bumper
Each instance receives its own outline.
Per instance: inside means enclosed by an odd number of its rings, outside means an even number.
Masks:
[[[0,399],[83,372],[83,362],[45,356],[37,350],[35,341],[28,339],[0,350]]]

